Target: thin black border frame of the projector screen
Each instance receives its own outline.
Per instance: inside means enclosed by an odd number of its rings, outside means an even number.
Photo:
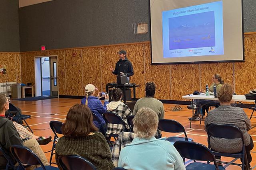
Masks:
[[[244,0],[240,0],[241,1],[241,17],[242,17],[242,54],[243,54],[243,59],[241,60],[220,60],[220,61],[188,61],[188,62],[165,62],[165,63],[153,63],[153,59],[152,59],[152,23],[151,23],[151,1],[149,0],[149,19],[150,19],[150,45],[151,45],[151,50],[150,50],[150,54],[151,54],[151,65],[161,65],[161,64],[200,64],[200,63],[233,63],[233,62],[245,62],[245,56],[244,56]],[[153,2],[154,4],[154,2]]]

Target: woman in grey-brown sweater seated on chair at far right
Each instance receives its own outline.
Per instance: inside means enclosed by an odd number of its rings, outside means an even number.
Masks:
[[[208,125],[212,123],[235,125],[244,133],[244,144],[246,145],[246,154],[248,162],[252,161],[250,150],[253,149],[252,137],[248,131],[252,129],[250,120],[244,110],[240,107],[230,106],[232,100],[233,88],[230,84],[224,84],[218,92],[220,106],[209,111],[204,121],[204,127],[207,130]],[[242,143],[237,139],[210,139],[212,149],[217,152],[236,153],[242,150]]]

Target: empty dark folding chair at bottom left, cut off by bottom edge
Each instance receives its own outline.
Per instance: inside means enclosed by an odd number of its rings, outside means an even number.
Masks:
[[[23,146],[20,145],[12,145],[11,152],[16,161],[19,163],[21,167],[25,169],[23,164],[26,165],[40,165],[40,168],[36,168],[36,170],[58,170],[59,168],[53,166],[44,166],[42,161],[36,156],[36,154]]]

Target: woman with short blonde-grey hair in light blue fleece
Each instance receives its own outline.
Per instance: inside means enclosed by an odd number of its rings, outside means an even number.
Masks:
[[[134,119],[132,143],[126,145],[118,160],[118,167],[127,170],[185,170],[179,152],[164,138],[156,139],[158,115],[142,107]]]

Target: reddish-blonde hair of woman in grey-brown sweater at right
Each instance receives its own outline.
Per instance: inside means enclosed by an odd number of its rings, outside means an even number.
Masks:
[[[222,103],[228,103],[232,100],[233,88],[230,84],[223,84],[218,92],[218,99]]]

